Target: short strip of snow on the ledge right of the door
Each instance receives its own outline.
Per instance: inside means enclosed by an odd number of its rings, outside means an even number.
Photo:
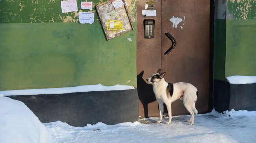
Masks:
[[[256,76],[228,76],[227,80],[231,84],[256,83]]]

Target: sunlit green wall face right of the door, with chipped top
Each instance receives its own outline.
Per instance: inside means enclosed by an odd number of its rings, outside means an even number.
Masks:
[[[256,1],[228,0],[226,77],[256,76]]]

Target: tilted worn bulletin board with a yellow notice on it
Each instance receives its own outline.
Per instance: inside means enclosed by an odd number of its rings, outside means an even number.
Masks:
[[[123,0],[124,2],[124,0]],[[127,7],[124,2],[124,6],[115,9],[112,2],[104,2],[95,6],[100,18],[100,22],[104,29],[106,39],[110,40],[124,33],[134,30],[132,21],[128,15]],[[122,30],[107,30],[108,20],[122,21]]]

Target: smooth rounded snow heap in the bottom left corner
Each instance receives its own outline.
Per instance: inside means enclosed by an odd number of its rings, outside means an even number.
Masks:
[[[52,136],[21,101],[0,94],[0,143],[52,143]]]

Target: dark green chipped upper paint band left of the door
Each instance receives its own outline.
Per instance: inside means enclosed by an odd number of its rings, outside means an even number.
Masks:
[[[0,0],[0,23],[78,22],[78,12],[95,12],[95,5],[106,0],[90,0],[93,10],[82,10],[76,0],[78,11],[61,13],[61,0]],[[125,0],[133,22],[136,15],[136,0]],[[96,17],[96,13],[95,13]]]

